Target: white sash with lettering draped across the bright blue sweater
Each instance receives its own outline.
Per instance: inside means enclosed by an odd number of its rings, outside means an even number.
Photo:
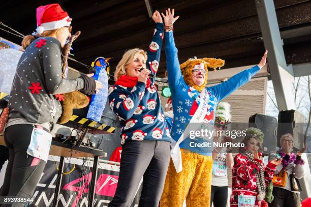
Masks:
[[[190,120],[188,126],[184,129],[183,133],[177,140],[177,142],[173,139],[171,145],[171,157],[176,169],[176,172],[179,173],[182,171],[182,161],[181,161],[181,151],[179,144],[189,136],[190,130],[188,130],[191,123],[202,123],[204,120],[204,117],[207,113],[207,106],[208,106],[208,93],[206,88],[200,93],[200,105],[198,109],[196,110],[195,114],[193,115],[192,119]],[[207,123],[208,124],[208,123]]]

